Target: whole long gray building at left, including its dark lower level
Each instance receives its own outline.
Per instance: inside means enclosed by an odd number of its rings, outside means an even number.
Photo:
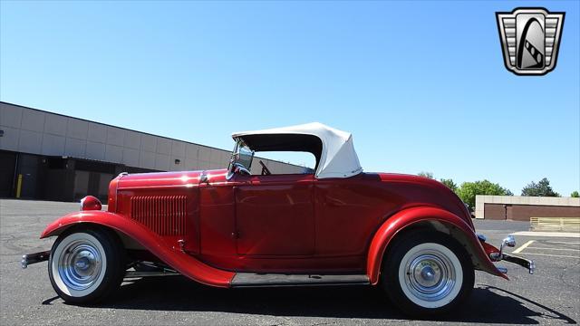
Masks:
[[[106,199],[128,172],[226,168],[230,150],[0,102],[0,197]],[[263,159],[273,173],[304,168]],[[260,167],[252,167],[259,173]]]

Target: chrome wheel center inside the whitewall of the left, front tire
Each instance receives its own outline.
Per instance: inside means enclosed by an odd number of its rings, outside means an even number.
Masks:
[[[92,286],[102,273],[102,255],[86,240],[67,245],[58,262],[58,273],[63,283],[76,291]]]

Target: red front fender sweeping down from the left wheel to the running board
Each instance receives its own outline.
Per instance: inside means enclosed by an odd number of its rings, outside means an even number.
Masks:
[[[199,262],[179,248],[169,245],[160,235],[150,231],[143,225],[131,219],[105,211],[82,211],[63,216],[43,231],[41,238],[58,235],[63,229],[79,223],[91,223],[111,227],[148,249],[163,262],[174,268],[179,273],[197,281],[218,287],[229,287],[235,273],[219,270]]]

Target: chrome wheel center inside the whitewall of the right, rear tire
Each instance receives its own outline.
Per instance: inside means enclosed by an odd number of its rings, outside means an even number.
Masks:
[[[435,302],[445,298],[456,284],[453,264],[445,254],[423,250],[405,264],[405,286],[417,298]]]

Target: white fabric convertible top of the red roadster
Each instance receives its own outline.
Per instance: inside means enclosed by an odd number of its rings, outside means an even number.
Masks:
[[[275,136],[276,135],[276,136]],[[322,149],[312,141],[320,139]],[[266,137],[264,137],[266,136]],[[275,136],[275,137],[272,137]],[[293,137],[294,136],[294,137]],[[256,151],[308,151],[317,159],[315,177],[352,177],[362,172],[353,146],[353,135],[319,122],[297,126],[236,132],[233,139],[243,139]]]

